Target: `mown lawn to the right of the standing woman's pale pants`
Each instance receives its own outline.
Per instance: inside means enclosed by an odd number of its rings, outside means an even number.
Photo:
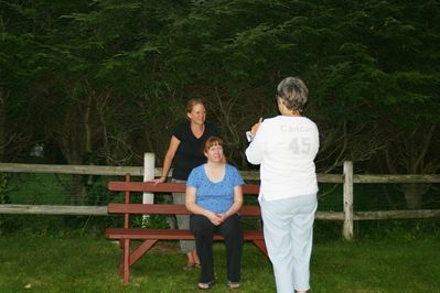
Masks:
[[[355,241],[314,247],[314,292],[440,292],[440,243]]]

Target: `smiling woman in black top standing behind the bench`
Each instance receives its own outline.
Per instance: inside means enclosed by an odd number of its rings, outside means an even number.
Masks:
[[[206,111],[201,99],[191,99],[186,107],[187,122],[178,124],[172,132],[170,144],[163,160],[162,176],[155,180],[157,183],[167,181],[171,164],[174,161],[172,181],[184,183],[191,171],[204,163],[206,156],[203,146],[207,138],[218,135],[214,124],[205,122]],[[184,193],[173,193],[173,202],[178,205],[185,204]],[[179,229],[190,229],[190,216],[176,216]],[[185,270],[200,265],[200,259],[195,250],[194,241],[180,241],[181,251],[186,253],[187,262]]]

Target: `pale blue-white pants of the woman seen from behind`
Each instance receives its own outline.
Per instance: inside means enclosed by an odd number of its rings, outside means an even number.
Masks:
[[[265,200],[261,195],[259,204],[277,292],[309,290],[316,194],[279,200]]]

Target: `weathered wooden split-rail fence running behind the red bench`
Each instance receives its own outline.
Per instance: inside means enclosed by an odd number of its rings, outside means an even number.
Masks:
[[[154,176],[162,174],[161,167],[154,167]],[[101,175],[144,176],[146,166],[105,166],[105,165],[47,165],[47,164],[19,164],[0,163],[0,173],[54,173],[71,175]],[[151,170],[151,169],[148,169]],[[152,172],[151,172],[152,173]],[[170,176],[171,176],[170,172]],[[259,181],[258,171],[240,171],[245,181]],[[318,174],[319,183],[343,184],[343,211],[318,211],[315,218],[322,220],[343,221],[343,236],[353,238],[354,220],[378,220],[378,219],[414,219],[440,217],[440,209],[422,210],[378,210],[378,211],[353,211],[353,185],[354,184],[434,184],[440,183],[437,174],[353,174],[353,163],[344,162],[343,174]],[[140,183],[142,184],[142,183]],[[1,204],[0,214],[31,214],[31,215],[90,215],[107,216],[106,206],[62,206],[62,205],[12,205]]]

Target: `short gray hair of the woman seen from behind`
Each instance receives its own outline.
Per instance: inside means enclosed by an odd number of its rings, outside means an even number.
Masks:
[[[277,87],[277,98],[291,111],[302,112],[309,89],[299,77],[286,77]]]

